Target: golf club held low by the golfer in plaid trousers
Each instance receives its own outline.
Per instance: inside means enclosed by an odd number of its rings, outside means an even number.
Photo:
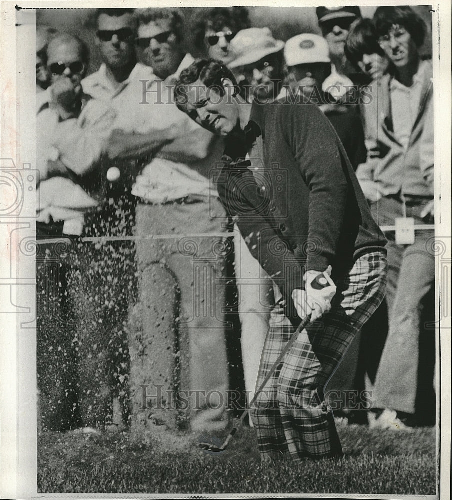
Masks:
[[[322,274],[318,274],[318,276],[316,276],[312,280],[312,282],[310,283],[310,286],[311,286],[312,289],[318,290],[318,291],[319,290],[324,290],[324,288],[330,287],[331,288],[330,300],[332,300],[332,297],[336,293],[336,286],[334,285],[334,282],[332,281],[332,279],[330,278],[330,276],[329,276],[329,274],[327,272],[323,272]],[[290,347],[295,343],[295,340],[298,338],[298,334],[304,328],[306,328],[306,326],[308,326],[309,323],[310,323],[310,316],[305,317],[301,321],[301,323],[298,326],[298,328],[296,329],[295,333],[291,336],[290,340],[286,343],[285,347],[282,349],[281,353],[279,354],[278,358],[274,362],[274,364],[271,367],[270,371],[267,373],[265,379],[260,384],[260,387],[256,390],[256,392],[254,394],[254,397],[252,398],[251,403],[246,408],[246,410],[243,411],[242,415],[240,416],[240,418],[238,419],[238,421],[235,423],[235,425],[233,426],[232,430],[229,432],[229,435],[226,437],[226,440],[224,441],[224,443],[222,444],[222,446],[216,446],[215,444],[209,443],[209,442],[200,442],[200,443],[198,443],[198,446],[201,449],[203,449],[204,451],[209,452],[209,453],[222,453],[227,448],[227,446],[228,446],[230,440],[232,439],[233,435],[235,434],[235,432],[237,432],[237,430],[240,427],[240,425],[242,424],[244,418],[249,413],[250,409],[254,406],[259,393],[263,390],[263,388],[265,387],[266,383],[268,382],[268,380],[270,379],[270,377],[273,375],[273,373],[275,372],[276,368],[278,367],[279,363],[282,361],[282,359],[284,358],[285,354],[287,354],[287,352],[289,351]]]

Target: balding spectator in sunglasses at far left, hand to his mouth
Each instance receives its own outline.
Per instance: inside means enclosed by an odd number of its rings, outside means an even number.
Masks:
[[[108,421],[107,397],[99,397],[92,410],[85,404],[91,391],[108,392],[109,366],[100,346],[100,331],[96,332],[99,356],[95,358],[99,376],[89,372],[93,361],[84,356],[92,341],[85,335],[87,310],[98,303],[90,302],[95,263],[78,237],[83,233],[85,214],[95,210],[101,199],[94,186],[101,184],[99,159],[114,112],[83,94],[80,82],[89,61],[81,40],[56,34],[49,41],[47,57],[51,85],[43,92],[46,99],[41,99],[36,117],[40,173],[36,234],[38,239],[66,236],[71,244],[66,247],[66,257],[58,254],[56,239],[54,244],[44,245],[48,252],[44,271],[55,254],[59,266],[51,270],[54,292],[38,308],[37,359],[43,424],[63,430]],[[46,279],[42,271],[38,270],[39,288]],[[80,388],[79,381],[83,382]]]

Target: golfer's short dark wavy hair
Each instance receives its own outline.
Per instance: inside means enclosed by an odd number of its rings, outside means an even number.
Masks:
[[[235,87],[235,93],[238,94],[238,84],[232,74],[232,71],[221,61],[216,59],[196,59],[190,66],[185,68],[180,73],[179,79],[174,88],[174,96],[177,107],[183,110],[186,103],[185,87],[197,80],[201,80],[207,88],[215,87],[220,95],[224,95],[224,88],[221,81],[223,78],[228,78],[232,81]]]

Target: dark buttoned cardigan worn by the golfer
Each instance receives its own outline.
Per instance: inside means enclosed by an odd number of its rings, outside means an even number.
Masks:
[[[253,143],[257,161],[244,161]],[[306,270],[331,264],[333,279],[340,279],[360,254],[386,244],[316,105],[254,104],[246,136],[228,138],[223,161],[220,199],[288,302]]]

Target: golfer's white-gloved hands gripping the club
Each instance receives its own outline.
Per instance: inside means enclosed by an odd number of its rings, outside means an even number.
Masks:
[[[325,272],[330,275],[331,266],[328,266]],[[320,289],[313,288],[312,283],[319,275],[321,277],[323,272],[307,271],[304,274],[305,289],[292,291],[292,300],[301,319],[311,315],[311,321],[316,321],[331,309],[331,300],[336,293],[336,287],[329,278],[329,286]],[[323,279],[326,278],[323,277]]]

